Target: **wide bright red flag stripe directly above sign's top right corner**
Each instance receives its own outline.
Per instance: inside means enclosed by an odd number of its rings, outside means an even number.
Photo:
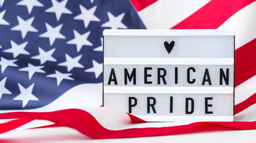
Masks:
[[[212,0],[172,29],[215,29],[255,0]]]

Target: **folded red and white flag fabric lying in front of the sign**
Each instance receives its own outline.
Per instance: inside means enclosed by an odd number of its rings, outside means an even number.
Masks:
[[[175,123],[147,124],[146,121],[129,113],[126,114],[125,112],[105,107],[64,109],[52,112],[8,112],[1,113],[0,119],[14,119],[0,124],[0,133],[16,129],[33,120],[48,120],[54,124],[36,128],[69,127],[95,139],[256,129],[256,122],[196,122],[180,123],[180,125]],[[101,122],[100,119],[105,121]],[[115,121],[114,125],[111,125],[113,121]],[[136,124],[143,124],[143,126],[136,126]]]

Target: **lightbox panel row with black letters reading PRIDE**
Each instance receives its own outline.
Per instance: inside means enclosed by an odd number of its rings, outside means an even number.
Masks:
[[[233,116],[233,94],[105,94],[104,106],[134,115]]]

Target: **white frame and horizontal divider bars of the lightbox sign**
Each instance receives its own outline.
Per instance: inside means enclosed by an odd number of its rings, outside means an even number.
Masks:
[[[234,31],[222,30],[104,30],[103,31],[103,67],[104,65],[233,65],[234,75],[234,43],[233,58],[105,58],[105,36],[233,36]],[[171,59],[171,60],[170,60]],[[189,61],[189,62],[188,62]],[[151,64],[148,64],[151,63]],[[103,68],[104,73],[104,68]],[[103,74],[104,75],[104,74]],[[234,82],[234,76],[233,78]],[[234,119],[234,83],[232,87],[105,87],[102,84],[102,105],[104,94],[108,93],[141,93],[141,94],[233,94],[232,116],[164,116],[135,115],[149,122],[173,121],[233,121]],[[159,92],[159,90],[161,92]],[[181,92],[183,91],[183,92]],[[184,92],[185,91],[185,92]]]

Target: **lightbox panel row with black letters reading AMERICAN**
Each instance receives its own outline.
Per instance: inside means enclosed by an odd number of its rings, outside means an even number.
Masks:
[[[104,65],[103,81],[104,86],[233,87],[233,76],[233,65]]]

